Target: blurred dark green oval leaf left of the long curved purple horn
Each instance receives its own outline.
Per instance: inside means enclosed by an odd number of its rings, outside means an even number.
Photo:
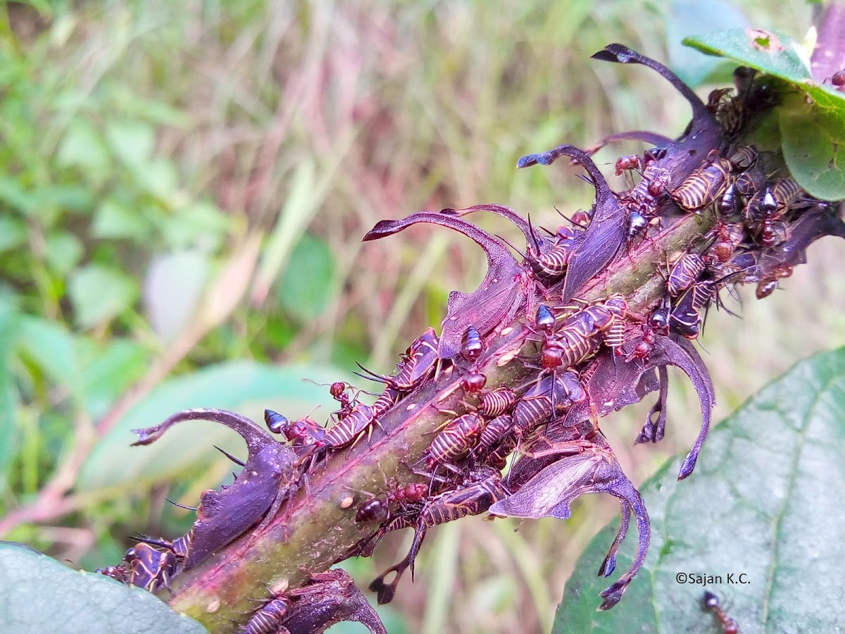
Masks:
[[[308,271],[308,275],[303,275]],[[281,307],[300,323],[323,314],[334,287],[335,258],[329,245],[306,233],[291,254],[287,266],[276,286]]]

